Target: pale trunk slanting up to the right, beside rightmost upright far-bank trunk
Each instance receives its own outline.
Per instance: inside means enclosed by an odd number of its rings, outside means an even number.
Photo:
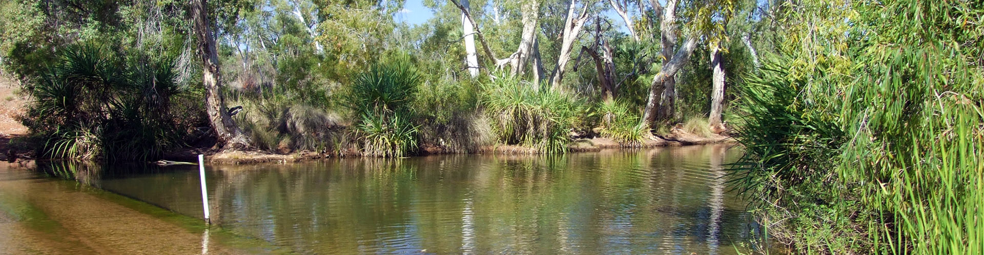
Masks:
[[[649,123],[651,127],[656,121],[656,109],[659,108],[660,99],[663,95],[663,91],[669,88],[663,87],[667,81],[673,79],[683,65],[690,59],[690,54],[694,52],[694,48],[697,47],[697,37],[690,37],[684,41],[683,46],[677,50],[676,54],[673,55],[669,62],[663,64],[662,69],[659,73],[652,78],[652,84],[649,86],[649,97],[646,100],[646,111],[643,115],[643,119],[646,123]]]

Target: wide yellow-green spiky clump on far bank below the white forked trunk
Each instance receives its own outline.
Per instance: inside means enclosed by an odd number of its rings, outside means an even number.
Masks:
[[[481,104],[499,140],[544,153],[567,152],[569,133],[587,109],[575,98],[536,90],[527,82],[501,78],[482,84]]]

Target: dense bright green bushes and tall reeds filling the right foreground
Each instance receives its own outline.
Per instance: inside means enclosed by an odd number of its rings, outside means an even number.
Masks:
[[[739,88],[732,184],[801,253],[984,253],[984,3],[843,7]]]

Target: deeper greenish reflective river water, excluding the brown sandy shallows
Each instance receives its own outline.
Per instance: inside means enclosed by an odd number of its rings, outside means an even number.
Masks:
[[[213,227],[303,254],[736,254],[727,146],[208,165]],[[197,166],[42,172],[203,218]]]

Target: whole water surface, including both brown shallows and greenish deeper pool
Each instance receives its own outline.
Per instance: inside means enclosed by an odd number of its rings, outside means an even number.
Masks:
[[[727,149],[207,165],[211,227],[197,166],[0,166],[0,253],[749,253]]]

